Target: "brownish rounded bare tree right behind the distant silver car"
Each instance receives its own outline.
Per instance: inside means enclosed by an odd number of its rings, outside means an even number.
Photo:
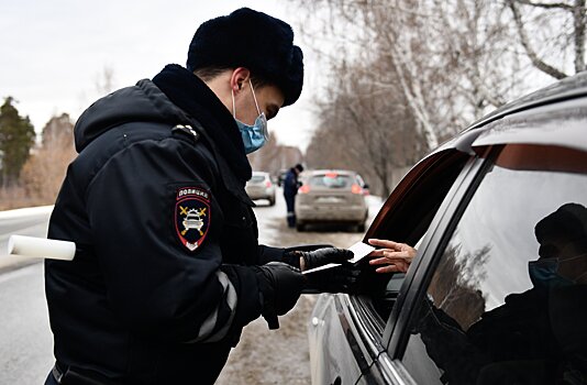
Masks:
[[[339,73],[339,87],[320,103],[320,130],[308,147],[308,165],[355,169],[374,191],[387,196],[394,172],[423,154],[422,138],[400,90],[377,87],[362,68]]]

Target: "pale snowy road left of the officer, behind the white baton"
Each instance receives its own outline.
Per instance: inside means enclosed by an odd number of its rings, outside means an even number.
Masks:
[[[0,384],[43,384],[53,365],[43,264],[5,255],[10,234],[46,237],[49,213],[0,212]]]

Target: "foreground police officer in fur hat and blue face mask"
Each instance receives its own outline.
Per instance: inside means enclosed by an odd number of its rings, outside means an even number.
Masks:
[[[292,38],[287,23],[236,10],[200,25],[187,68],[168,65],[79,118],[48,232],[77,254],[45,263],[46,384],[211,384],[245,324],[277,328],[311,289],[300,270],[352,256],[257,243],[246,154],[301,92]]]

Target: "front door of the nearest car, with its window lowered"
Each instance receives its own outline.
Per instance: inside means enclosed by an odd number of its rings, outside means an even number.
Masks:
[[[452,186],[462,179],[468,158],[467,152],[451,147],[417,165],[384,205],[366,238],[416,243]],[[411,211],[403,209],[411,206]],[[314,306],[309,326],[313,384],[383,381],[377,361],[387,345],[386,322],[403,276],[375,274],[368,266],[364,272],[361,295],[321,295]]]

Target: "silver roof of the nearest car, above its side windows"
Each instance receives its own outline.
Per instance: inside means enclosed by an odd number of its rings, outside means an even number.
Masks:
[[[565,124],[561,125],[561,120]],[[440,145],[438,152],[506,144],[551,144],[587,151],[587,72],[509,102]]]

